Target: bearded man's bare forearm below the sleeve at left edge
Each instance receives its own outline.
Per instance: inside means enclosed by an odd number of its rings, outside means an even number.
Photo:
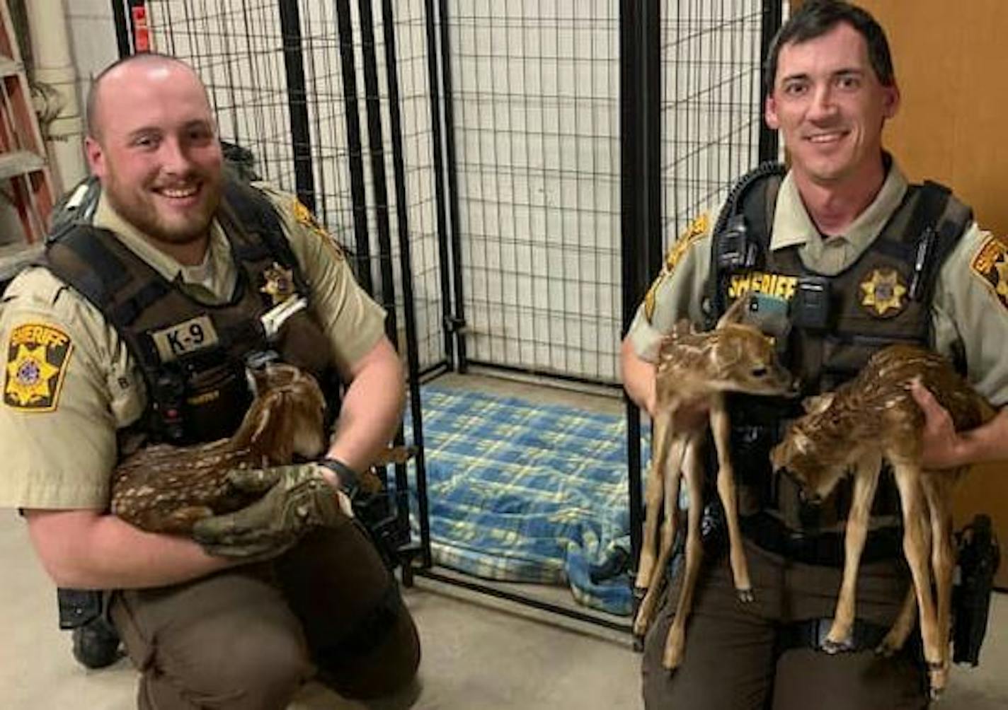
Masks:
[[[96,511],[27,510],[24,514],[35,553],[61,587],[163,586],[234,564],[208,555],[188,538],[146,533]]]

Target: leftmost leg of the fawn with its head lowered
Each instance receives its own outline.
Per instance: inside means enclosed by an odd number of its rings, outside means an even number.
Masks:
[[[875,488],[879,481],[882,459],[870,456],[859,461],[854,469],[854,500],[847,515],[847,531],[844,535],[844,580],[837,597],[837,610],[833,615],[833,625],[823,643],[823,650],[829,654],[853,651],[852,629],[857,609],[858,569],[861,553],[868,537],[868,518],[875,500]]]

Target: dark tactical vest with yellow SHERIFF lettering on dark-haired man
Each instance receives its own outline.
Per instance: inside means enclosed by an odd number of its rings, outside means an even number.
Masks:
[[[885,345],[930,346],[934,283],[973,220],[971,209],[941,185],[911,185],[857,261],[827,277],[801,263],[797,246],[770,251],[784,173],[782,165],[761,165],[733,188],[719,216],[705,298],[709,325],[749,292],[787,301],[789,332],[780,338],[778,351],[800,380],[803,396],[852,379]],[[789,421],[801,415],[800,399],[731,395],[729,408],[740,514],[768,513],[787,529],[806,533],[841,530],[850,508],[849,481],[812,508],[800,502],[790,477],[771,470],[770,449]],[[898,525],[898,510],[895,483],[886,472],[879,481],[871,527]]]

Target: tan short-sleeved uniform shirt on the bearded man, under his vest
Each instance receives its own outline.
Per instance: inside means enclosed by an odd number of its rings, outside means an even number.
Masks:
[[[264,185],[310,289],[314,315],[346,369],[378,342],[385,312],[354,281],[343,254],[292,195]],[[205,302],[230,299],[238,267],[221,226],[198,266],[150,245],[104,196],[95,226],[111,230],[165,278]],[[102,314],[50,272],[28,269],[0,305],[4,350],[0,506],[104,510],[116,430],[144,411],[143,378]]]

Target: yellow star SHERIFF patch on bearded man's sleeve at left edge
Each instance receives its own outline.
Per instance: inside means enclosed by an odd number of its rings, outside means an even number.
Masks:
[[[7,343],[3,402],[30,412],[55,410],[74,343],[58,328],[26,323]]]

